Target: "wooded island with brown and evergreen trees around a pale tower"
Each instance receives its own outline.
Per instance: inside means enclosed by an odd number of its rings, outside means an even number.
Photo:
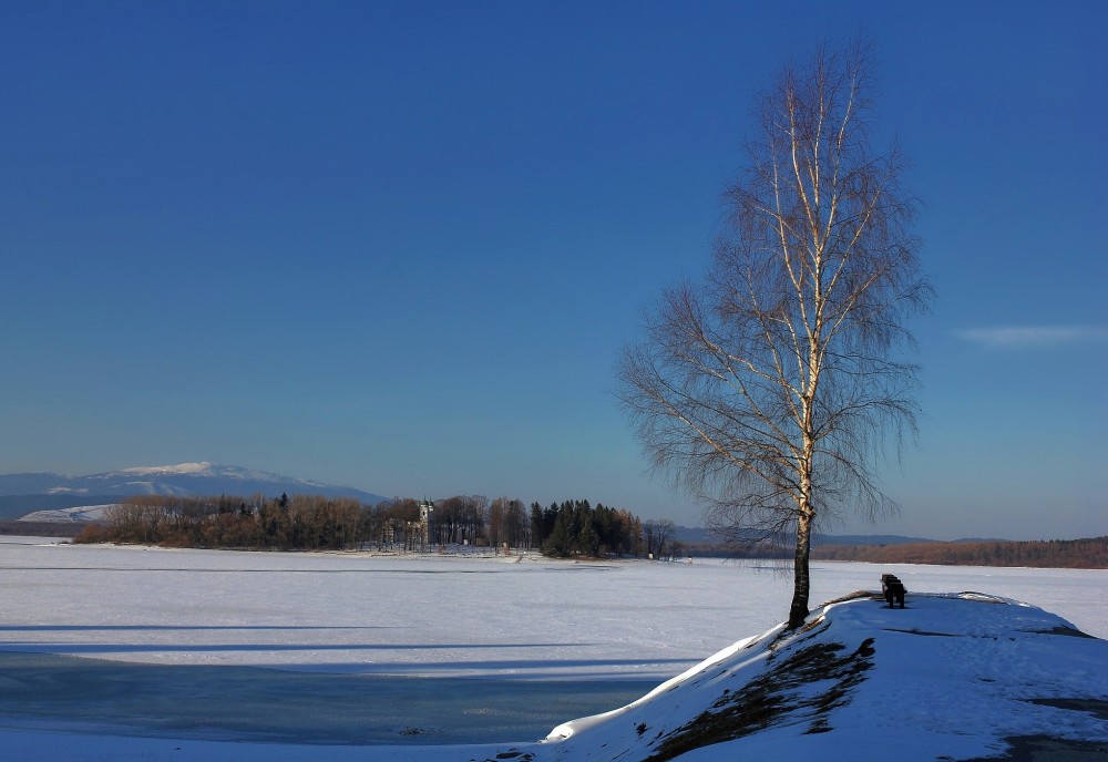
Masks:
[[[136,495],[107,508],[79,543],[258,550],[378,549],[427,552],[447,546],[540,549],[553,557],[673,557],[680,550],[669,519],[643,522],[625,508],[563,501],[544,508],[522,501],[458,495],[366,505],[318,495],[195,497]]]

